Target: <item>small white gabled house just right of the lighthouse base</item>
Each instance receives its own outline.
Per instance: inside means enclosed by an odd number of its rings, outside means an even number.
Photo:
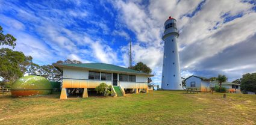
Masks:
[[[210,79],[201,76],[189,76],[185,79],[186,88],[198,88],[198,91],[211,91]]]

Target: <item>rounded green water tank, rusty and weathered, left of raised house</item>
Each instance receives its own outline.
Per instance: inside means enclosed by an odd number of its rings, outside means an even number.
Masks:
[[[17,79],[11,86],[11,95],[14,97],[36,96],[51,93],[51,83],[42,76],[24,76]]]

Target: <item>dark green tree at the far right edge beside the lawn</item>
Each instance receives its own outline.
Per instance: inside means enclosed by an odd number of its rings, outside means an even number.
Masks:
[[[247,73],[241,79],[241,90],[256,93],[256,73]]]

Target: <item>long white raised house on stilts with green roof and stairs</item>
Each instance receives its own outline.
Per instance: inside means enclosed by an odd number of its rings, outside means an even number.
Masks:
[[[77,88],[75,91],[79,93],[81,90],[83,97],[88,97],[87,88],[96,88],[102,82],[112,85],[112,91],[117,96],[125,96],[125,90],[148,92],[148,77],[153,76],[104,63],[53,65],[63,73],[60,99],[67,99],[70,88]]]

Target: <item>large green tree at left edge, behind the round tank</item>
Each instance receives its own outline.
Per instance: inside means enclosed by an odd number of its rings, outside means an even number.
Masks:
[[[23,76],[20,64],[25,61],[25,58],[22,52],[8,48],[0,49],[0,76],[4,82],[13,82]]]

